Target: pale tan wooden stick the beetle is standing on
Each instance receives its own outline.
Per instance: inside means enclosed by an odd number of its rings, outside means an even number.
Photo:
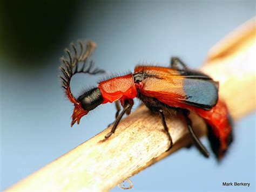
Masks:
[[[237,120],[255,109],[255,19],[215,46],[203,72],[220,81],[220,97],[226,100]],[[205,124],[191,114],[193,127],[205,135]],[[107,128],[69,153],[31,174],[7,191],[88,190],[107,191],[126,178],[191,142],[184,122],[167,118],[174,146],[165,152],[169,140],[158,115],[143,106],[123,119],[110,139]]]

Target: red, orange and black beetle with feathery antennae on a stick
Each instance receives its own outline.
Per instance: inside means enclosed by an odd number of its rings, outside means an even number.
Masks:
[[[184,115],[194,145],[204,156],[209,156],[207,149],[194,134],[192,122],[188,117],[190,112],[194,112],[201,116],[208,126],[208,139],[215,156],[219,160],[223,157],[232,142],[232,125],[225,102],[218,99],[218,82],[204,73],[188,69],[179,58],[172,58],[170,67],[138,65],[133,73],[101,81],[98,87],[75,98],[70,90],[70,81],[75,74],[94,75],[105,71],[95,67],[93,61],[88,61],[96,48],[95,43],[87,42],[84,50],[83,43],[79,42],[79,54],[77,47],[74,44],[71,46],[72,53],[66,50],[68,58],[62,57],[63,65],[60,66],[62,87],[68,99],[75,105],[71,126],[76,122],[79,124],[82,116],[97,106],[115,102],[116,120],[111,132],[105,135],[107,139],[116,131],[123,115],[131,113],[133,99],[137,97],[151,112],[160,115],[170,140],[169,149],[173,142],[165,116],[174,111]]]

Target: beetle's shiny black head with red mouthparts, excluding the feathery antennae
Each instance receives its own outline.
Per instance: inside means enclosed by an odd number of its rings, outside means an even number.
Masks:
[[[103,98],[99,88],[93,88],[80,95],[75,103],[75,108],[72,114],[71,127],[77,122],[79,124],[82,116],[86,115],[92,109],[102,104]]]

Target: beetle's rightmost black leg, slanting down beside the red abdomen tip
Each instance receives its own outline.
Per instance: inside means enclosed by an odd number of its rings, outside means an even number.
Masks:
[[[205,157],[208,157],[210,155],[210,153],[205,148],[203,143],[201,143],[201,141],[198,139],[197,135],[194,133],[194,131],[192,129],[192,122],[191,122],[190,118],[188,118],[189,111],[183,110],[183,114],[184,114],[185,120],[187,122],[188,131],[190,131],[190,135],[192,136],[194,145],[196,145],[196,147],[201,152],[201,154],[203,154]]]

